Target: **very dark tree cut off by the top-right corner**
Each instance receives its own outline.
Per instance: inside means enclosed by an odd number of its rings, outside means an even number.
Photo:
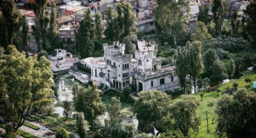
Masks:
[[[249,17],[245,26],[246,32],[252,38],[252,46],[256,47],[256,2],[251,1],[244,11],[246,16]]]

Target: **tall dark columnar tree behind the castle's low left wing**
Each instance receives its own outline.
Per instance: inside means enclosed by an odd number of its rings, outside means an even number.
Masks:
[[[90,8],[84,11],[84,19],[81,21],[78,31],[76,32],[76,48],[80,51],[81,58],[92,56],[94,49],[94,24]]]

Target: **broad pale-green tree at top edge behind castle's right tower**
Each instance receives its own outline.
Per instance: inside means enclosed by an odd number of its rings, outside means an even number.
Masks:
[[[158,1],[158,6],[154,9],[158,34],[172,38],[174,47],[178,47],[181,37],[189,33],[184,16],[184,12],[188,13],[188,11],[188,1]]]

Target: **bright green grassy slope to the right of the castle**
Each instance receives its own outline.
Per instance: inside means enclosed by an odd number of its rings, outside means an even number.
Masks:
[[[209,131],[210,131],[210,137],[215,137],[214,133],[216,133],[216,119],[217,116],[214,113],[214,110],[216,109],[216,103],[217,100],[222,95],[222,92],[226,90],[226,88],[232,88],[233,83],[236,82],[239,84],[238,88],[244,88],[246,85],[250,85],[250,83],[245,82],[245,78],[248,77],[252,80],[252,82],[256,81],[256,74],[248,74],[245,77],[241,77],[240,79],[234,79],[232,82],[226,83],[222,86],[220,86],[219,90],[220,92],[213,91],[213,92],[207,92],[207,91],[201,91],[196,94],[194,94],[200,101],[201,101],[201,96],[200,94],[204,93],[204,96],[202,98],[202,101],[200,103],[200,106],[198,107],[197,113],[201,118],[201,125],[199,126],[199,133],[198,133],[198,138],[200,137],[207,137],[207,120],[206,120],[206,111],[208,114],[208,126],[209,126]],[[252,83],[251,82],[251,83]],[[251,88],[248,89],[249,91],[253,91],[252,89],[252,84]],[[218,96],[219,94],[219,96]],[[175,102],[178,100],[178,98],[173,99]],[[213,106],[208,106],[209,103],[213,103]],[[217,137],[217,136],[216,136]]]

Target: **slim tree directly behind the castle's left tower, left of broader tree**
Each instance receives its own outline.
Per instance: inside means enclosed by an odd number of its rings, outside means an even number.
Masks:
[[[105,19],[107,21],[107,26],[104,31],[105,36],[108,40],[116,40],[116,31],[118,29],[117,21],[116,21],[117,14],[114,13],[112,7],[107,7]]]

